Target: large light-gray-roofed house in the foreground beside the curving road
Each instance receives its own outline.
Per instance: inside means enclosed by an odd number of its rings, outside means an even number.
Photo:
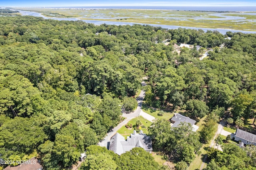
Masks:
[[[130,137],[127,137],[127,140],[125,140],[119,133],[116,133],[110,138],[109,150],[112,150],[118,155],[121,155],[135,147],[143,148],[147,152],[151,153],[152,140],[149,136],[144,134],[142,130],[140,130],[140,133],[136,133],[134,130],[133,133],[130,134]]]

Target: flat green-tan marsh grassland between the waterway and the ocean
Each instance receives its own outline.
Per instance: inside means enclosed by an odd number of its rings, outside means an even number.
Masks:
[[[208,20],[223,18],[213,16],[222,14],[216,12],[199,12],[199,11],[176,11],[176,10],[139,10],[139,9],[64,9],[64,8],[14,8],[20,10],[29,10],[40,12],[42,15],[49,16],[49,13],[55,13],[57,17],[73,17],[84,20],[101,20],[101,21],[120,21],[145,24],[162,24],[177,25],[187,27],[203,28],[223,28],[237,30],[256,31],[256,15],[246,13],[228,13],[225,16],[240,16],[244,20]]]

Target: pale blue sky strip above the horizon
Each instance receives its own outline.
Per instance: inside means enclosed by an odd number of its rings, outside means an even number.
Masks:
[[[256,6],[256,0],[0,0],[0,6]]]

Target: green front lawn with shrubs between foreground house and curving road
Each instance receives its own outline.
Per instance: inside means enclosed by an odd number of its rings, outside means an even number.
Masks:
[[[146,128],[142,128],[142,131],[143,131],[143,133],[148,134],[148,127],[151,125],[151,122],[148,121],[147,119],[144,119],[142,116],[139,116],[139,117],[133,118],[128,123],[131,123],[132,126],[134,126],[136,124],[137,120],[140,120],[142,122],[142,125],[146,126]],[[130,133],[133,133],[133,131],[134,131],[133,127],[132,127],[132,129],[129,130],[125,126],[123,126],[117,132],[120,133],[125,138],[127,138],[128,136],[130,136]]]

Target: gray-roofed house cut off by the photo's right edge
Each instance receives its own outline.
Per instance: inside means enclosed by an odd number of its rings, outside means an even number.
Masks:
[[[241,146],[246,145],[256,145],[256,135],[243,131],[241,129],[236,129],[235,141],[241,141]]]

